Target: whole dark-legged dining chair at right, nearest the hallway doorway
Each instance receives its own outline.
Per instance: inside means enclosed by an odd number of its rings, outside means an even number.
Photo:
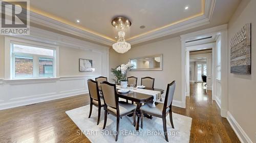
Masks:
[[[152,107],[152,102],[151,102],[151,103],[146,103],[145,105],[140,107],[141,115],[143,115],[143,113],[146,113],[148,115],[162,118],[163,130],[165,133],[164,136],[167,142],[168,142],[168,136],[167,136],[167,130],[166,130],[166,116],[168,115],[168,113],[170,118],[170,124],[174,128],[172,103],[173,103],[175,86],[176,86],[175,80],[172,83],[169,83],[167,85],[166,95],[165,95],[163,104],[155,103],[156,107]],[[143,116],[141,116],[141,128],[143,128]]]

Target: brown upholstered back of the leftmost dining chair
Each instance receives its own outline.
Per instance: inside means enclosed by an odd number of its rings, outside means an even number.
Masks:
[[[94,81],[92,79],[88,79],[87,84],[88,84],[90,98],[98,101],[99,98],[100,98],[99,89],[98,89],[98,82]]]

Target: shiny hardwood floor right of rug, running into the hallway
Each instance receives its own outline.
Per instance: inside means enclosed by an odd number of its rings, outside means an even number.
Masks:
[[[190,142],[240,142],[228,121],[220,115],[220,108],[211,99],[202,83],[190,83],[190,97],[186,109],[173,107],[173,111],[193,118]]]

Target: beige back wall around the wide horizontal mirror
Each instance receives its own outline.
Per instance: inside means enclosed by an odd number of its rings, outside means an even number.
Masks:
[[[181,106],[181,41],[180,37],[158,41],[133,47],[128,52],[121,54],[121,63],[129,62],[131,58],[138,58],[154,54],[163,54],[162,71],[130,71],[127,76],[138,77],[140,85],[141,77],[151,76],[155,78],[155,88],[166,91],[167,83],[176,80],[174,104]]]

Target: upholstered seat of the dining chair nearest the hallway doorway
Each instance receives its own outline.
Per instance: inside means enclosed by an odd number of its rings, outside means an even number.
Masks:
[[[140,107],[140,110],[162,116],[164,105],[162,103],[156,103],[156,107],[152,107],[152,105],[153,105],[152,103],[146,103],[145,105]],[[166,113],[168,111],[169,109],[166,109]]]

